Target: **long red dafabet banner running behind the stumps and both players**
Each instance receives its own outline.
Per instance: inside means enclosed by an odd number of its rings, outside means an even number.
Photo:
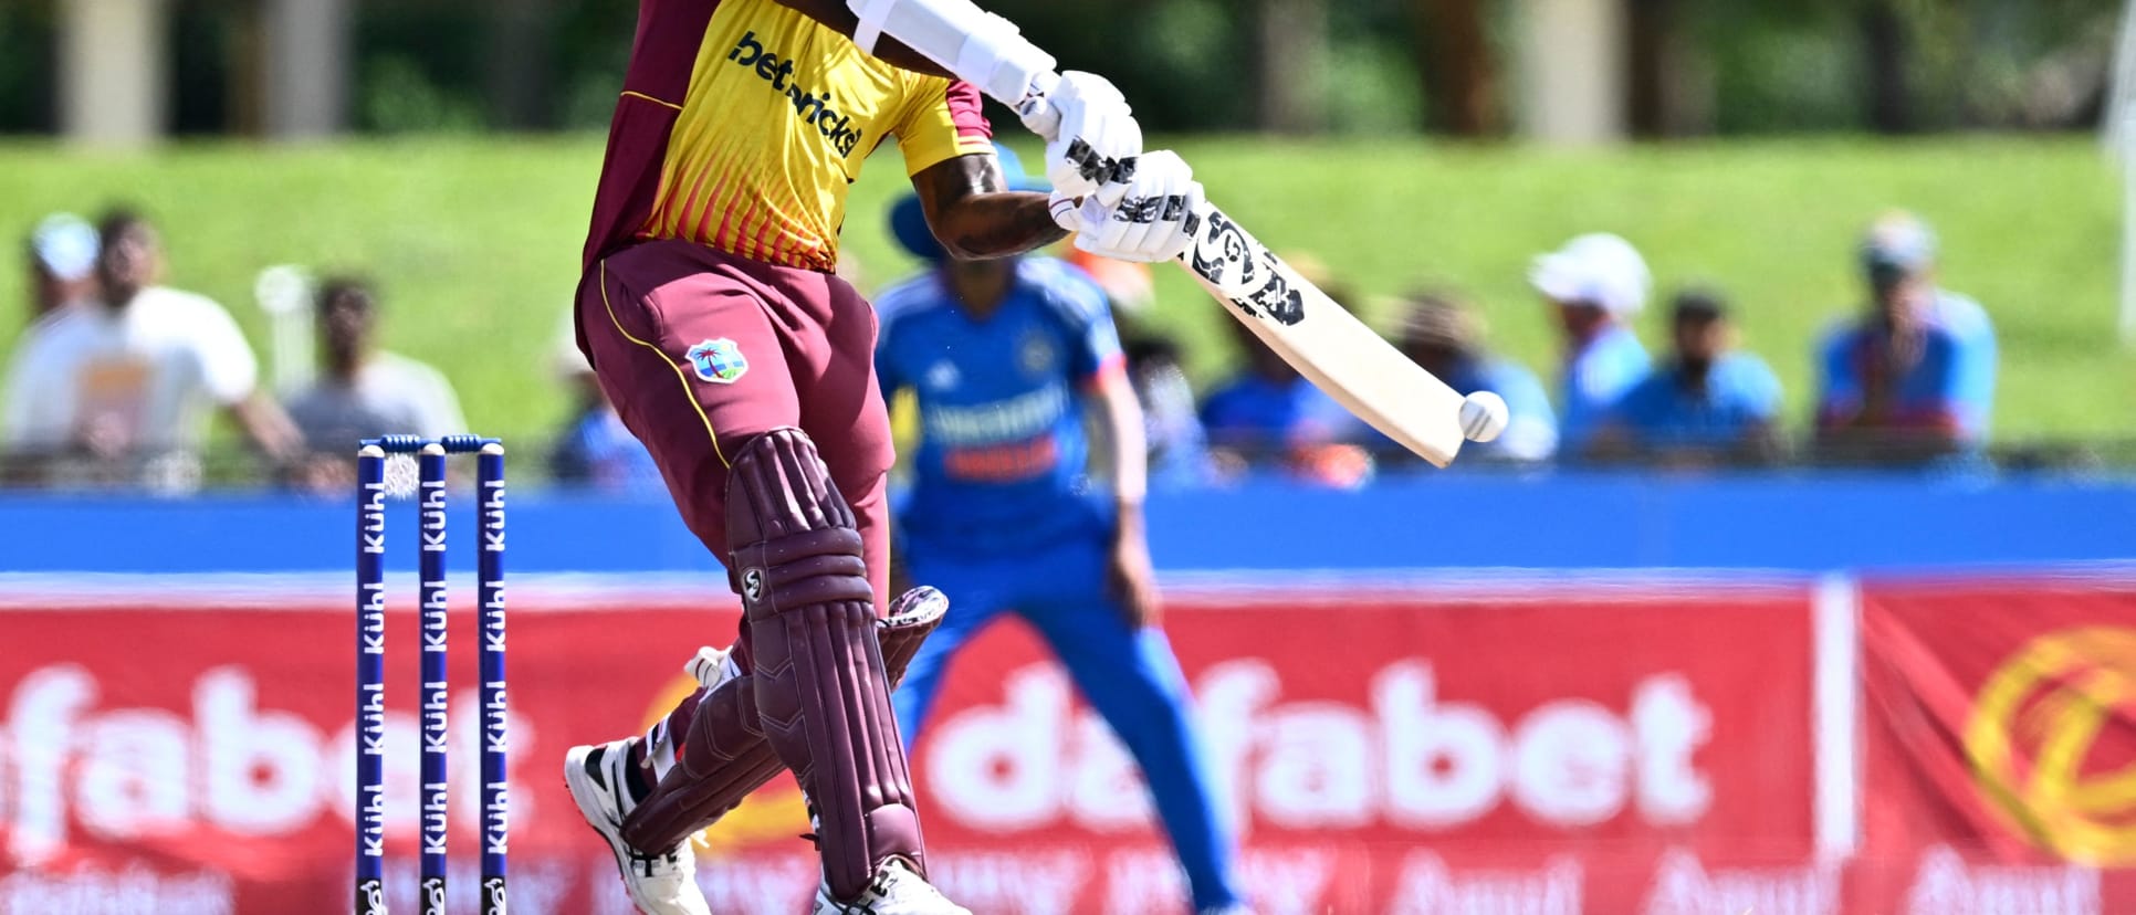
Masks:
[[[1207,591],[1175,595],[1166,629],[1265,913],[1837,911],[1841,872],[1811,864],[1809,587]],[[515,593],[517,911],[626,911],[562,753],[664,712],[698,640],[731,631],[733,608]],[[389,640],[408,633],[395,610]],[[316,591],[0,608],[0,913],[346,898],[352,638],[348,604]],[[453,655],[470,751],[472,655]],[[389,651],[399,906],[414,676]],[[453,842],[472,851],[474,755],[453,759]],[[1132,764],[1025,629],[957,661],[914,772],[936,877],[974,911],[1181,909]],[[711,830],[713,909],[797,911],[814,883],[784,781]],[[472,855],[461,868],[472,902]]]

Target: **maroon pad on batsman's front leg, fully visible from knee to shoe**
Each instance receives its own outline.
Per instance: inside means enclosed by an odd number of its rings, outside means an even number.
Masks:
[[[735,454],[726,542],[741,569],[756,712],[816,815],[824,887],[859,898],[891,857],[925,877],[861,531],[805,433],[773,429]]]

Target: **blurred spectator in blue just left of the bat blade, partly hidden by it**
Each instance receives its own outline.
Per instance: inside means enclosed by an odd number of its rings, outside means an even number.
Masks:
[[[1335,301],[1356,301],[1312,258],[1286,254],[1305,279]],[[1356,446],[1369,427],[1284,363],[1243,322],[1226,322],[1245,369],[1203,399],[1203,429],[1220,473],[1279,467],[1312,482],[1356,486],[1371,478],[1371,454]]]

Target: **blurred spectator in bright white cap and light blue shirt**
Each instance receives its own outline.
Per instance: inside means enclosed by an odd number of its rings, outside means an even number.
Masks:
[[[1630,326],[1653,277],[1630,241],[1596,232],[1536,258],[1527,279],[1566,331],[1559,454],[1581,454],[1617,397],[1653,367]]]

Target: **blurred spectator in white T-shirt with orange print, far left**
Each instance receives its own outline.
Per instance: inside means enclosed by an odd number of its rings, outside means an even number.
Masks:
[[[152,486],[199,480],[209,407],[222,407],[271,461],[299,452],[288,416],[256,390],[258,365],[222,305],[156,282],[162,247],[147,220],[100,226],[94,307],[60,309],[15,354],[9,450],[90,454]]]

